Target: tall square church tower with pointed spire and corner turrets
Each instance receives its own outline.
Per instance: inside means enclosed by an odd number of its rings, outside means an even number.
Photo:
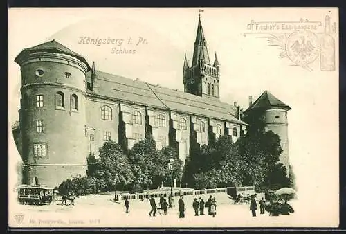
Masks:
[[[185,55],[183,83],[185,93],[219,99],[220,64],[215,53],[214,63],[209,59],[206,38],[201,24],[201,15],[197,26],[192,64],[189,66]]]

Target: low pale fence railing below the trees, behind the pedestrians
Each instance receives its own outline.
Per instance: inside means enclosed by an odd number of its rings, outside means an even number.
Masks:
[[[212,194],[212,193],[220,193],[220,192],[226,192],[226,188],[210,188],[210,189],[201,189],[201,190],[181,190],[181,191],[174,191],[173,196],[177,197],[179,195],[205,195],[205,194]],[[116,195],[116,201],[123,201],[126,198],[128,200],[135,200],[135,199],[149,199],[152,196],[154,198],[158,198],[160,196],[168,197],[170,195],[170,191],[157,191],[157,192],[143,192],[143,193],[122,193]]]

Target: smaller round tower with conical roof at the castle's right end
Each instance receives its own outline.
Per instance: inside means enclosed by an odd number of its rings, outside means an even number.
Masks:
[[[252,97],[249,100],[250,107],[246,112],[251,110],[260,110],[264,116],[265,130],[272,131],[280,137],[280,144],[282,153],[279,156],[280,163],[287,169],[287,176],[289,177],[289,134],[288,134],[288,120],[287,111],[291,109],[284,102],[275,98],[269,91],[264,91],[260,98],[252,103]]]

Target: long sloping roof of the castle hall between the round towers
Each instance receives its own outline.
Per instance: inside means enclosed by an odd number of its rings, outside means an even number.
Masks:
[[[236,107],[213,98],[196,96],[102,71],[95,71],[95,75],[98,91],[87,91],[93,96],[246,125],[233,116]],[[87,73],[87,76],[90,80],[91,73]]]

